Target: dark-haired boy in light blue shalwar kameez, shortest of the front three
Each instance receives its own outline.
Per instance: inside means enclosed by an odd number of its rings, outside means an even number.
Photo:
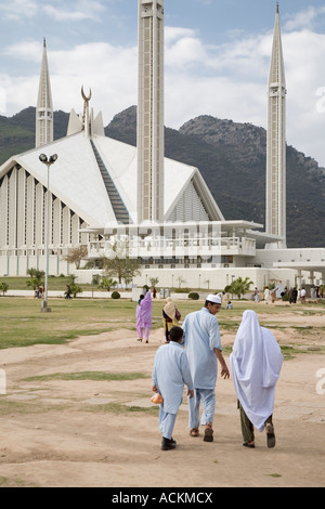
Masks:
[[[153,391],[159,392],[164,403],[159,408],[159,428],[162,434],[161,449],[176,447],[172,431],[177,414],[183,399],[184,384],[187,395],[193,397],[193,382],[184,349],[181,347],[183,330],[181,327],[170,329],[170,343],[158,348],[153,369]],[[191,400],[190,400],[191,401]]]

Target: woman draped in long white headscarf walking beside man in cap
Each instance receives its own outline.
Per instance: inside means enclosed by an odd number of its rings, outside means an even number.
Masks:
[[[274,447],[272,413],[283,355],[273,334],[260,326],[255,311],[243,313],[230,364],[240,410],[243,445],[255,447],[255,427],[259,431],[265,429],[268,446]]]

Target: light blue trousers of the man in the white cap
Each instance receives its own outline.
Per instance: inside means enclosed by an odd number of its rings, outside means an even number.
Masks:
[[[203,405],[202,425],[213,422],[216,409],[216,392],[214,389],[194,389],[194,396],[188,397],[188,427],[199,427],[199,405]]]

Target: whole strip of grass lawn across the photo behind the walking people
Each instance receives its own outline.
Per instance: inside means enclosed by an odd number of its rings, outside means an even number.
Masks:
[[[161,327],[164,300],[153,300],[153,328]],[[131,299],[49,299],[50,313],[42,313],[41,301],[31,298],[0,297],[0,349],[27,347],[36,343],[60,344],[78,336],[96,335],[117,328],[135,331],[136,303]],[[182,300],[178,302],[182,319],[192,311],[203,306],[203,301]],[[250,301],[235,302],[234,310],[222,309],[218,314],[221,331],[234,331],[238,328],[245,309],[250,309]],[[276,324],[276,316],[287,313],[287,305],[262,305],[258,312],[274,315],[274,327],[287,327]],[[296,304],[289,311],[298,314],[323,312],[324,304],[317,309],[309,304]],[[261,325],[262,322],[261,322]],[[290,325],[291,327],[295,324]],[[307,328],[306,328],[307,329]]]

